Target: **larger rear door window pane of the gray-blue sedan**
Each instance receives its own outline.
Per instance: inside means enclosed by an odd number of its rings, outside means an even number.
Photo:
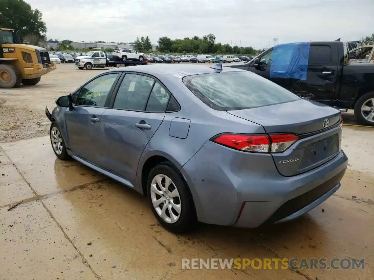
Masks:
[[[144,111],[154,79],[137,75],[126,74],[118,89],[113,108]]]

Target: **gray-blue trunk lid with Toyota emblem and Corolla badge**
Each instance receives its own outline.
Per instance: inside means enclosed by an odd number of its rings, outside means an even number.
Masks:
[[[284,152],[272,153],[279,173],[284,176],[317,168],[340,152],[340,111],[332,107],[301,99],[227,112],[262,125],[269,135],[291,133],[299,137]]]

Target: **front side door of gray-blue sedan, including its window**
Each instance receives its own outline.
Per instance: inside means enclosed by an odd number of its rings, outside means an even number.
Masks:
[[[73,108],[65,112],[69,148],[74,155],[86,161],[96,162],[95,153],[100,149],[98,133],[101,114],[118,78],[118,72],[93,78],[77,91]]]

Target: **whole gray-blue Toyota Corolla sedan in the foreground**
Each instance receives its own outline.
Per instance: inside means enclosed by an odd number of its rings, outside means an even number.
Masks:
[[[331,196],[348,162],[340,111],[221,66],[101,72],[46,108],[53,151],[147,196],[175,233],[284,222]]]

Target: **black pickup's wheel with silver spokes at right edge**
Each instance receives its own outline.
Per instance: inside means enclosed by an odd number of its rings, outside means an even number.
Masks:
[[[357,100],[355,116],[361,124],[374,126],[374,92],[364,94]]]

